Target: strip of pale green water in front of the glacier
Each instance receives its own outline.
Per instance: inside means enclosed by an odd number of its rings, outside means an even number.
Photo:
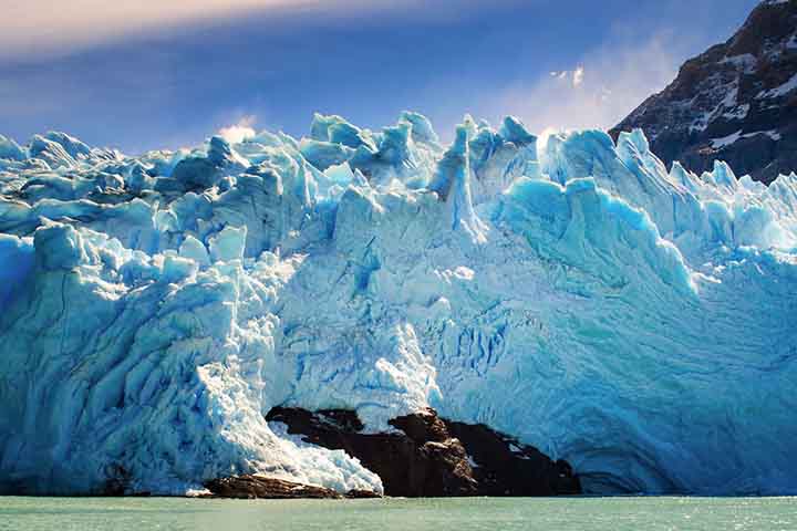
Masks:
[[[797,498],[0,498],[0,530],[797,530]]]

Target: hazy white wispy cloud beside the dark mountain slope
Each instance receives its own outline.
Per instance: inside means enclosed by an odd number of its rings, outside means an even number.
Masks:
[[[538,133],[551,129],[610,128],[670,83],[683,61],[669,34],[648,42],[605,45],[572,70],[506,87],[495,114],[515,114]]]

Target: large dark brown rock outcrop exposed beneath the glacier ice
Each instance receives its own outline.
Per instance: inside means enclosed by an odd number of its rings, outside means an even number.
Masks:
[[[395,418],[393,433],[364,434],[356,414],[278,407],[268,420],[330,449],[356,457],[402,497],[556,496],[581,492],[565,461],[552,461],[483,425],[452,423],[425,409]]]

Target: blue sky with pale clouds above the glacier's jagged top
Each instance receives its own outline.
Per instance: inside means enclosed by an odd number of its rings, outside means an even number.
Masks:
[[[757,0],[0,0],[0,134],[131,154],[465,113],[609,128]]]

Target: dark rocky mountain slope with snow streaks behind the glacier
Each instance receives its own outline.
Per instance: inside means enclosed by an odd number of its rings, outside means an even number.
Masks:
[[[611,134],[635,127],[664,163],[698,174],[714,160],[764,183],[797,169],[797,0],[762,2]]]

